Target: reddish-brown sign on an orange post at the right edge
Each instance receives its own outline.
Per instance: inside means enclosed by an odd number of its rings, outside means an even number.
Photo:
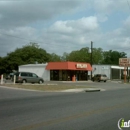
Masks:
[[[126,68],[130,66],[130,58],[119,58],[119,66],[124,67],[124,82],[126,82]]]

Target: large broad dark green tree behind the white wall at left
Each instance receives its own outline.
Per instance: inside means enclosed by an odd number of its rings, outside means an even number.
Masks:
[[[6,69],[18,70],[19,65],[35,64],[36,62],[46,63],[50,61],[50,57],[50,54],[39,48],[37,43],[30,43],[7,54],[5,57],[7,61]]]

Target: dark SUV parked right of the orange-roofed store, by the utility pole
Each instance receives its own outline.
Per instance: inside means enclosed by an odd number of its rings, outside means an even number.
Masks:
[[[108,80],[108,77],[105,74],[96,74],[94,77],[92,77],[92,81],[104,81],[106,82]]]

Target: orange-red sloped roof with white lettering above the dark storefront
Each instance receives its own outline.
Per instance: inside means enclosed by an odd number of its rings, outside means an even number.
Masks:
[[[47,70],[87,70],[92,71],[90,63],[81,62],[49,62]]]

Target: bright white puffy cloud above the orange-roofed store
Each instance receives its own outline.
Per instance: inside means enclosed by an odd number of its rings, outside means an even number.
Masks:
[[[94,16],[83,17],[78,20],[56,21],[49,29],[57,33],[89,32],[98,29],[98,21]]]

